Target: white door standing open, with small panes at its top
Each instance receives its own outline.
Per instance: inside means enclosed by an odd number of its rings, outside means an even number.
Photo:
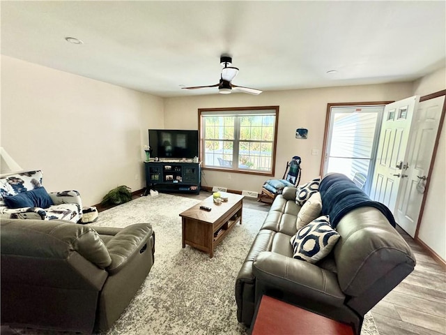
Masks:
[[[392,213],[395,213],[403,162],[407,161],[413,111],[419,99],[412,96],[390,103],[384,109],[370,198],[385,204]]]

